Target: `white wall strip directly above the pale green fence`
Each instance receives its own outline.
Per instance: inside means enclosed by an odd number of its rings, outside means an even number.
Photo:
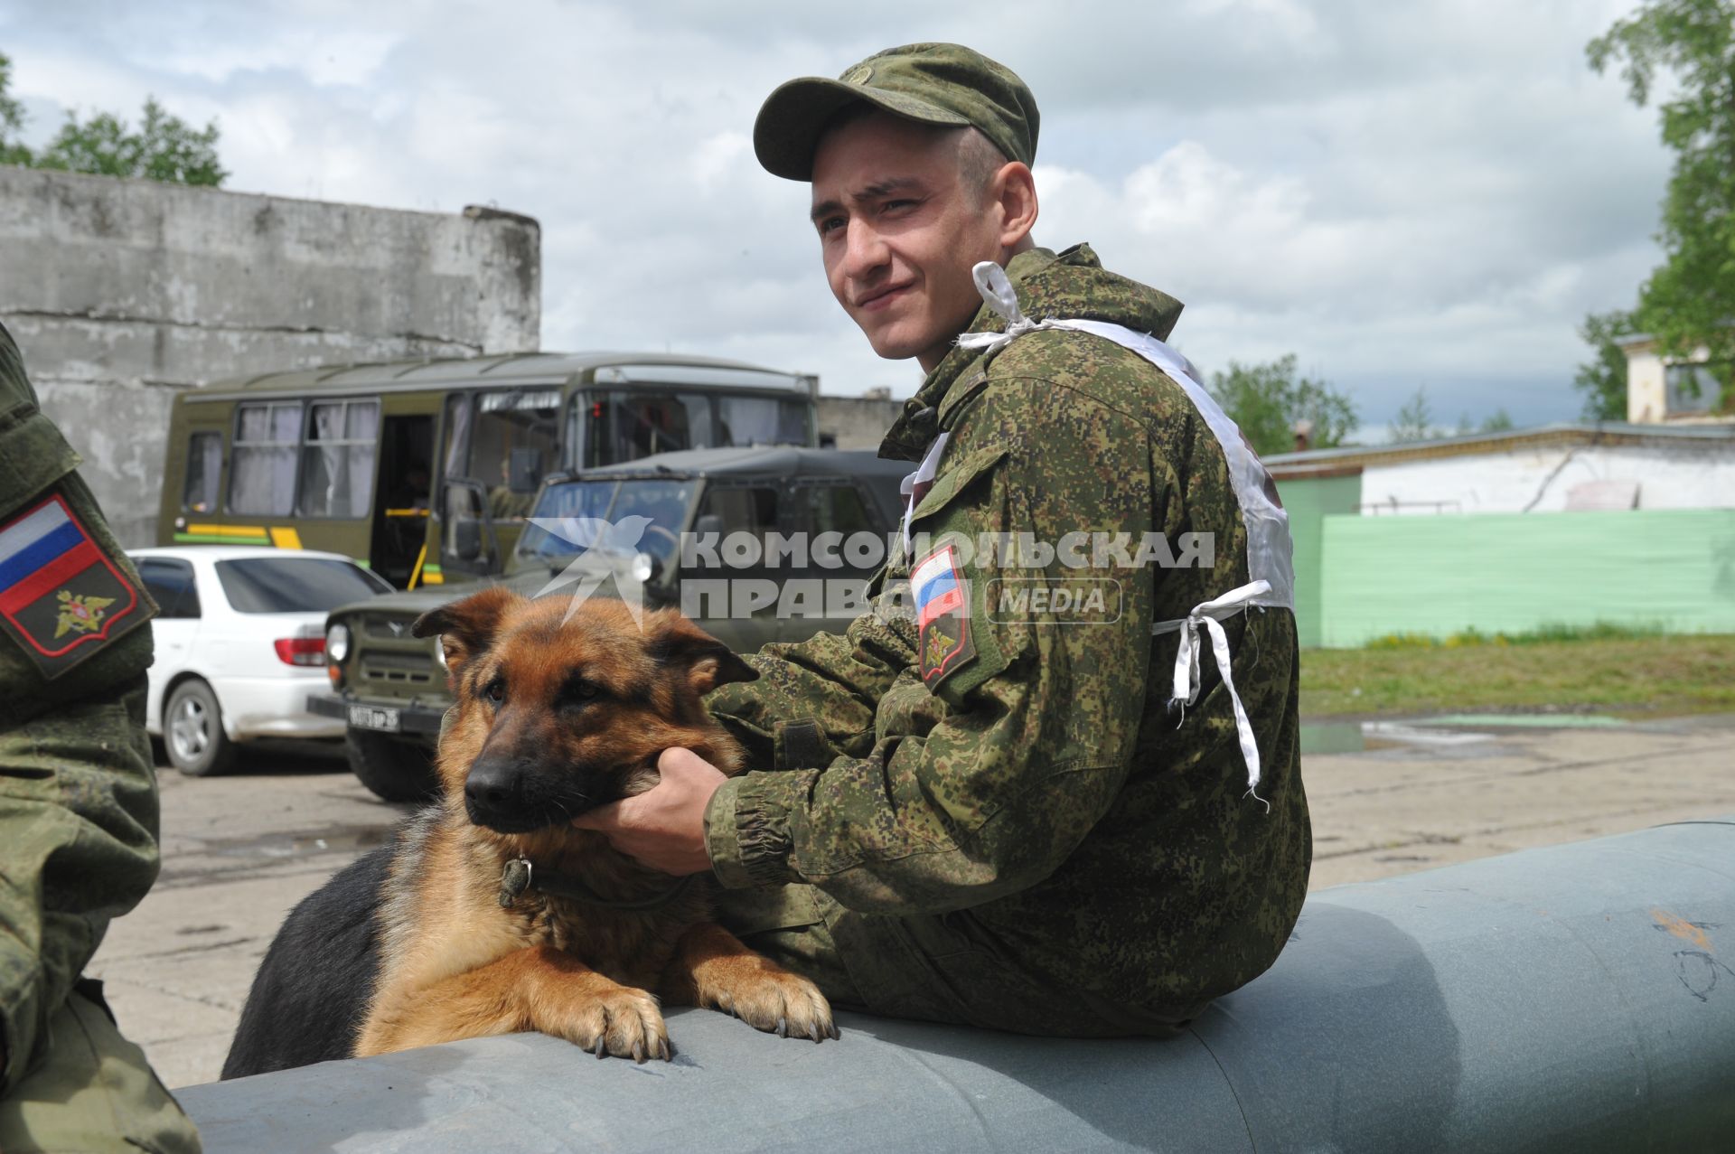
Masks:
[[[1558,512],[1586,482],[1638,484],[1638,508],[1735,507],[1735,437],[1671,446],[1549,446],[1367,465],[1367,514]]]

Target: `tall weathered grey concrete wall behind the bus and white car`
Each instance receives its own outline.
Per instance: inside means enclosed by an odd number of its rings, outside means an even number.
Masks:
[[[0,323],[127,545],[174,392],[271,370],[534,351],[541,229],[0,167]]]

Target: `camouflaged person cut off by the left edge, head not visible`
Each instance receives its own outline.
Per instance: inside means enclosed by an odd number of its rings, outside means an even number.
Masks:
[[[0,1151],[198,1151],[102,984],[156,880],[156,613],[0,326]]]

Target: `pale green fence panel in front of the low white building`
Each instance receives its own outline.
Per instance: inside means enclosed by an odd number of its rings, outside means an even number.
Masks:
[[[1327,647],[1598,621],[1735,633],[1735,508],[1324,519]]]

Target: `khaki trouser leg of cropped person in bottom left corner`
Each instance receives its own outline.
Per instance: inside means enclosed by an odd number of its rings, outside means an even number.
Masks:
[[[200,1135],[106,1006],[75,991],[49,1019],[42,1065],[0,1100],[0,1151],[198,1154]]]

